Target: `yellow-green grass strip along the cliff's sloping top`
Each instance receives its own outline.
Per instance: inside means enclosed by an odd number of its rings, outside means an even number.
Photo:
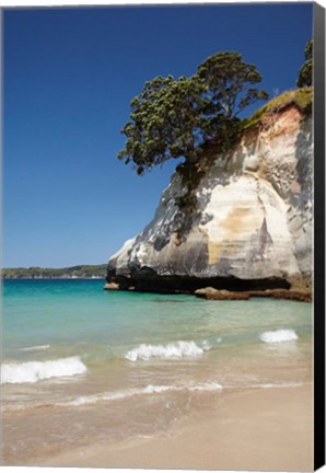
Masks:
[[[265,115],[286,108],[289,105],[298,106],[303,115],[311,115],[313,104],[313,88],[290,90],[258,108],[252,116],[242,122],[241,130],[246,130],[259,124]]]

